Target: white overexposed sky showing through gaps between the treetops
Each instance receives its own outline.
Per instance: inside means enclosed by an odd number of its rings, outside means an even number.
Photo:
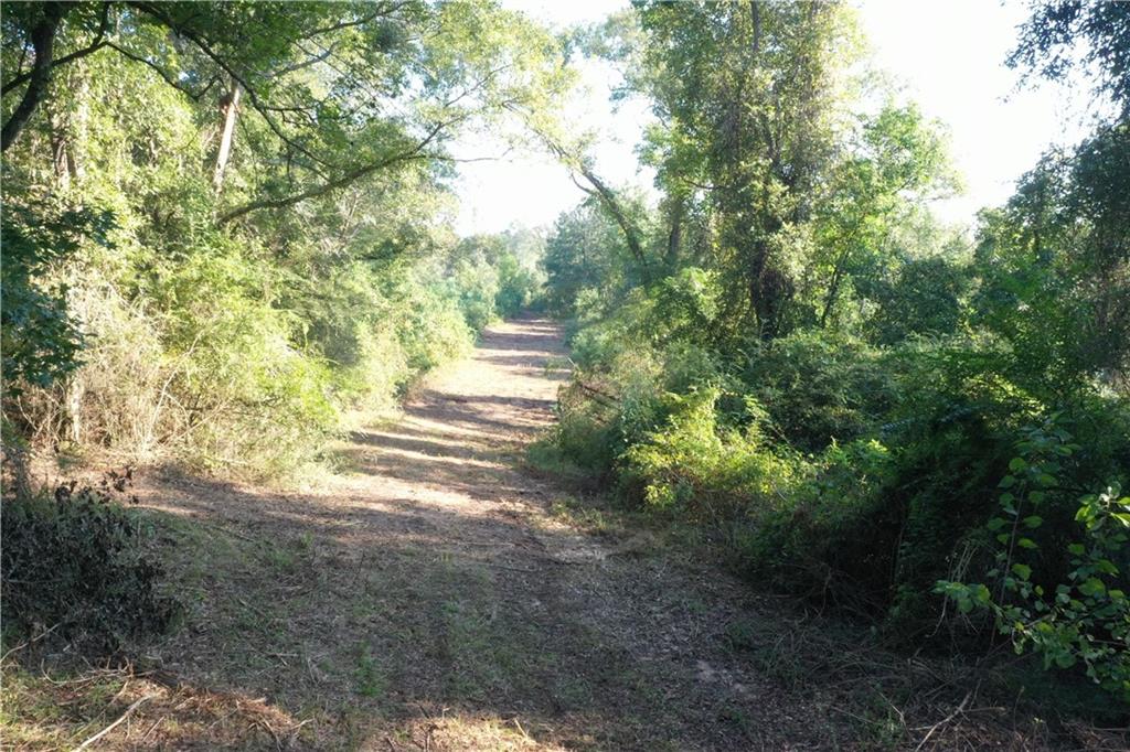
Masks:
[[[503,0],[503,5],[564,27],[600,20],[626,0]],[[939,202],[944,219],[973,221],[977,209],[1002,203],[1015,181],[1053,143],[1069,145],[1087,132],[1085,96],[1042,85],[1017,90],[1017,73],[1003,61],[1016,41],[1027,3],[1007,0],[853,0],[876,67],[905,86],[906,95],[945,123],[951,154],[964,175],[965,195]],[[592,90],[579,128],[601,135],[597,165],[614,184],[650,185],[637,169],[634,148],[649,113],[643,103],[614,112],[608,102],[610,69],[590,64]],[[467,156],[498,154],[488,143],[461,143]],[[505,160],[461,165],[461,234],[490,233],[516,224],[550,225],[583,198],[568,173],[540,155],[512,154]]]

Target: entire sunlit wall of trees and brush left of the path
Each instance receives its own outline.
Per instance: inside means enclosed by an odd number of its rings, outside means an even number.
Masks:
[[[446,145],[565,90],[489,2],[9,2],[3,430],[250,476],[531,303]]]

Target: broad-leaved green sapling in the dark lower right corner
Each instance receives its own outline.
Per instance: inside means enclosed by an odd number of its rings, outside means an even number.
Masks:
[[[1063,493],[1062,463],[1080,448],[1053,422],[1029,429],[999,483],[998,514],[985,524],[996,542],[990,584],[939,580],[936,592],[960,613],[991,613],[1016,652],[1041,654],[1045,670],[1081,664],[1095,683],[1130,701],[1130,497],[1115,483],[1083,497],[1075,525],[1045,525]],[[1074,528],[1075,540],[1049,550],[1038,534],[1049,528]],[[1057,571],[1063,552],[1066,576]]]

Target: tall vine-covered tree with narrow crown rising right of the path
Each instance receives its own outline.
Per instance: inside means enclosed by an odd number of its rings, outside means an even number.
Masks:
[[[853,32],[832,3],[637,6],[646,46],[631,77],[662,123],[652,158],[670,196],[671,238],[688,208],[709,207],[714,264],[731,325],[746,311],[780,333],[799,282],[814,198],[835,161],[838,79]],[[677,243],[676,243],[677,245]]]

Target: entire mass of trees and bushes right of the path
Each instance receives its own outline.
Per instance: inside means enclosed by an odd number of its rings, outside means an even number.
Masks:
[[[548,239],[579,365],[554,445],[762,585],[1130,699],[1128,35],[1127,6],[1034,8],[1011,64],[1085,58],[1112,114],[971,238],[929,211],[944,129],[868,76],[850,9],[590,29],[653,103],[661,199],[593,194]]]

